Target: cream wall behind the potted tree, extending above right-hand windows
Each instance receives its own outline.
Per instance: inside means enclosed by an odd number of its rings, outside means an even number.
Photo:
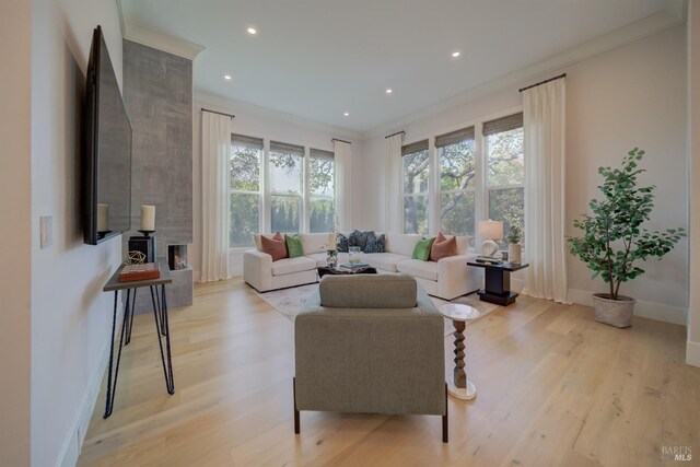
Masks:
[[[686,176],[686,66],[685,28],[676,26],[641,40],[579,61],[548,77],[567,72],[567,225],[588,210],[598,196],[597,167],[619,164],[633,147],[648,151],[642,183],[655,184],[656,208],[651,229],[687,227]],[[522,84],[529,84],[540,77]],[[515,86],[494,91],[466,105],[386,131],[406,130],[405,142],[413,142],[472,124],[522,104]],[[360,174],[363,189],[355,192],[355,219],[383,230],[385,209],[384,137],[364,141]],[[375,209],[372,207],[375,206]],[[662,261],[645,265],[648,273],[622,292],[640,300],[637,312],[675,323],[686,322],[688,244],[682,242]],[[592,281],[585,266],[569,258],[571,297],[587,301],[588,291],[604,291]]]

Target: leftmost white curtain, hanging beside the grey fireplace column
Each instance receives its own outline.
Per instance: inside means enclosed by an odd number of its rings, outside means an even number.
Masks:
[[[229,217],[231,117],[201,114],[202,258],[201,282],[230,279]]]

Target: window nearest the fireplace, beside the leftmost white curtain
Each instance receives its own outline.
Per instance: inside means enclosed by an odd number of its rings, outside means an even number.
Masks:
[[[260,231],[261,160],[261,139],[231,136],[231,247],[252,246],[253,234]]]

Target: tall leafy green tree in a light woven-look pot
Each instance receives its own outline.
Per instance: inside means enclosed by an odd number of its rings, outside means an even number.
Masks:
[[[649,257],[661,259],[686,236],[682,229],[650,232],[642,226],[654,206],[654,186],[638,187],[637,177],[644,151],[634,148],[623,159],[620,168],[599,167],[604,178],[598,186],[603,199],[588,206],[593,214],[583,214],[573,225],[582,231],[579,237],[568,237],[570,252],[600,276],[609,285],[608,293],[594,293],[595,319],[617,327],[631,325],[634,299],[620,295],[622,282],[644,273],[638,266]]]

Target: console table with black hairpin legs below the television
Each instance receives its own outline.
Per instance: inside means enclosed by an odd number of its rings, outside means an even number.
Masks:
[[[165,301],[165,284],[173,282],[166,258],[158,258],[161,277],[140,281],[119,282],[120,266],[109,278],[109,281],[102,289],[104,292],[114,291],[114,312],[112,315],[112,342],[109,347],[109,367],[107,373],[107,397],[105,400],[105,413],[103,418],[112,415],[114,408],[114,396],[117,389],[117,376],[119,375],[119,362],[121,361],[121,348],[131,341],[131,328],[133,327],[133,306],[136,304],[136,292],[139,288],[148,287],[151,290],[151,302],[153,303],[153,317],[155,319],[155,331],[158,343],[161,348],[161,362],[163,363],[163,374],[165,375],[165,387],[168,394],[175,394],[175,381],[173,380],[173,362],[171,360],[171,331],[167,322],[167,302]],[[159,291],[160,285],[160,291]],[[114,361],[114,340],[117,330],[117,299],[120,290],[126,290],[124,307],[124,319],[121,320],[121,334],[119,337],[119,352],[117,361]],[[160,293],[159,293],[160,292]],[[163,339],[163,336],[165,339]],[[165,340],[165,346],[163,346]],[[165,351],[163,350],[165,347]]]

